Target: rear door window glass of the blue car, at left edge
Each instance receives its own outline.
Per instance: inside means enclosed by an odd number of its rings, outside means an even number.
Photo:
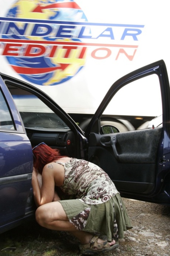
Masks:
[[[10,111],[0,91],[0,129],[14,129]]]

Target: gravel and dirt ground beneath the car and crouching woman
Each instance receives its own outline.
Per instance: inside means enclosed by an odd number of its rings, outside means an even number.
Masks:
[[[105,256],[170,256],[170,206],[123,198],[133,229]],[[81,256],[78,241],[28,223],[0,235],[0,255]]]

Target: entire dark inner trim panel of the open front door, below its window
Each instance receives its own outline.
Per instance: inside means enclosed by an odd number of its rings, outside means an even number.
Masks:
[[[162,128],[113,135],[93,133],[89,160],[109,174],[118,190],[149,194],[154,189],[161,134]]]

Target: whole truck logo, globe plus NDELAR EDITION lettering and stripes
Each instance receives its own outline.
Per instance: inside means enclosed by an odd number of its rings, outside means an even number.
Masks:
[[[88,22],[73,0],[18,0],[0,18],[0,49],[27,81],[58,85],[84,68],[88,54],[100,60],[116,49],[115,59],[133,60],[143,27]]]

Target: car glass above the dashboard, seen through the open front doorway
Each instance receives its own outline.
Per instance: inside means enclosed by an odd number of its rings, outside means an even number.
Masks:
[[[8,89],[26,128],[68,129],[68,125],[37,96],[11,85]]]

